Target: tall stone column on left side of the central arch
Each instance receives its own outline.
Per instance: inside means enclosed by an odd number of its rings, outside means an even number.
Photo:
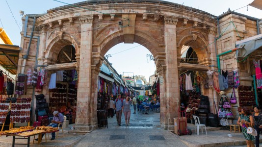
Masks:
[[[81,45],[79,61],[79,83],[77,100],[76,131],[88,131],[97,128],[94,112],[91,111],[91,51],[93,37],[93,15],[79,18],[81,23]],[[95,116],[96,117],[96,116]]]

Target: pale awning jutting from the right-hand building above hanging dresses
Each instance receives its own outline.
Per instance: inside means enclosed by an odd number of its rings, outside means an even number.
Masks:
[[[257,49],[262,49],[262,34],[236,42],[236,58],[246,57]]]

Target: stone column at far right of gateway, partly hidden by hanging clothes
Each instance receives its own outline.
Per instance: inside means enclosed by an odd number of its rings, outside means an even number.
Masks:
[[[217,65],[217,59],[216,59],[216,52],[215,52],[215,44],[213,43],[215,41],[215,34],[216,34],[216,29],[213,27],[209,28],[209,52],[210,54],[208,54],[208,56],[210,56],[211,60],[211,65]],[[209,58],[209,57],[208,57]],[[217,68],[215,67],[211,67],[211,70],[216,70]],[[215,113],[215,105],[214,105],[214,100],[216,103],[216,108],[218,108],[218,101],[219,101],[219,97],[217,97],[216,92],[213,89],[209,89],[209,101],[210,101],[210,112],[211,113]],[[217,110],[218,111],[218,110]]]

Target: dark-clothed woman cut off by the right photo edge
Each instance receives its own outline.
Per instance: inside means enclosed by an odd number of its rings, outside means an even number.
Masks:
[[[256,147],[259,147],[259,135],[260,132],[262,132],[262,113],[259,111],[259,106],[254,106],[254,114],[253,117],[255,119],[255,129],[258,132],[258,135],[256,136]]]

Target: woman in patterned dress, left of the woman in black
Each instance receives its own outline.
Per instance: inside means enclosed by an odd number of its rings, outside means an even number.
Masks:
[[[237,124],[240,124],[242,126],[242,132],[246,139],[247,147],[255,147],[252,142],[255,140],[255,137],[246,132],[248,126],[254,125],[254,118],[248,107],[242,107],[241,113],[242,114],[239,115],[239,118],[237,120]]]

